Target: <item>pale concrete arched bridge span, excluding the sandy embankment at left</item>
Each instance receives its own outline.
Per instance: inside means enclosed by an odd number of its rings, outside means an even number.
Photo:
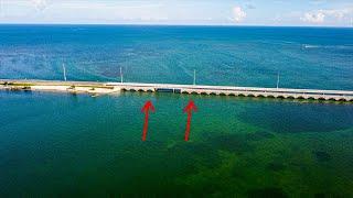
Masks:
[[[229,87],[229,86],[193,86],[172,84],[119,84],[108,82],[127,91],[161,91],[189,95],[218,95],[237,97],[282,98],[282,99],[313,99],[353,101],[353,91],[347,90],[318,90],[318,89],[286,89],[261,87]]]

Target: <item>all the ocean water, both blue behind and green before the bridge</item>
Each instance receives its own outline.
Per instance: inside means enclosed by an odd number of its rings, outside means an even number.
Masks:
[[[353,29],[0,25],[0,78],[353,90]],[[191,141],[183,107],[193,99]],[[151,100],[148,141],[141,107]],[[0,92],[0,197],[352,197],[353,106]]]

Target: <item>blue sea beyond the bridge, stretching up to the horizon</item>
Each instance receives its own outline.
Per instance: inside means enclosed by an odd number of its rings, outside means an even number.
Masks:
[[[353,89],[353,29],[1,25],[0,78]]]

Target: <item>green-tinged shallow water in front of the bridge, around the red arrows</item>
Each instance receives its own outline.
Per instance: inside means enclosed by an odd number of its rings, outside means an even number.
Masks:
[[[185,143],[189,96],[0,96],[7,197],[352,196],[353,106],[195,96],[199,111]],[[157,112],[142,143],[140,107],[148,99]]]

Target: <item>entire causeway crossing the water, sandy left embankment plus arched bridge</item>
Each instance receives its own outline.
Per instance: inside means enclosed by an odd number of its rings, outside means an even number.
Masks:
[[[217,95],[235,97],[353,101],[353,91],[350,90],[0,79],[0,89],[11,89],[21,86],[22,88],[26,87],[31,90],[67,90],[71,92],[82,91],[90,94],[110,94],[117,91],[146,91],[174,92],[188,95]]]

